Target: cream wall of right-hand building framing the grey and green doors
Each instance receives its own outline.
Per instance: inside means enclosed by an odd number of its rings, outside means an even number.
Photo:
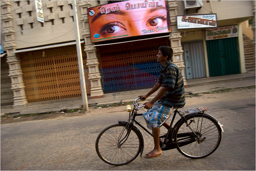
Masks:
[[[245,59],[243,51],[243,29],[242,22],[247,21],[252,18],[255,14],[254,1],[202,1],[202,7],[198,12],[186,13],[182,8],[184,6],[184,1],[177,1],[178,3],[178,15],[200,15],[200,14],[217,14],[217,26],[230,26],[239,25],[239,35],[238,35],[238,48],[239,48],[239,61],[240,61],[240,73],[246,72],[245,70]],[[254,9],[254,10],[253,10]],[[236,12],[234,12],[236,11]],[[255,24],[255,21],[254,21]],[[205,32],[204,29],[187,29],[180,30],[182,35],[182,42],[202,40],[204,41],[204,57],[206,62],[206,75],[209,77],[209,67],[208,67],[208,55],[206,49]],[[253,32],[249,30],[247,32]],[[255,31],[254,31],[255,32]],[[255,39],[255,36],[254,36]]]

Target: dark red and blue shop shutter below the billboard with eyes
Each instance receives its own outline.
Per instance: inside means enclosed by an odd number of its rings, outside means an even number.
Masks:
[[[169,38],[99,46],[104,93],[152,88],[160,75],[160,46],[170,46]]]

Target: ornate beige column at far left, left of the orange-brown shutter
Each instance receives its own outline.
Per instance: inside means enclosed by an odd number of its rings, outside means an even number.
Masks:
[[[13,91],[13,107],[26,106],[28,103],[23,82],[23,73],[20,65],[20,57],[15,55],[15,30],[11,15],[11,3],[9,0],[1,0],[2,33],[5,36],[4,47],[7,53],[9,65],[9,77],[11,78],[11,90]]]

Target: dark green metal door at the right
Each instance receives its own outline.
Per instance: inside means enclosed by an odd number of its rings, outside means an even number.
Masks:
[[[237,37],[208,40],[206,45],[210,77],[240,73]]]

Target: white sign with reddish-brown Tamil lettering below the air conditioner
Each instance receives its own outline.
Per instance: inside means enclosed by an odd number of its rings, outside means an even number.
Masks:
[[[178,29],[215,28],[216,14],[177,16]]]

